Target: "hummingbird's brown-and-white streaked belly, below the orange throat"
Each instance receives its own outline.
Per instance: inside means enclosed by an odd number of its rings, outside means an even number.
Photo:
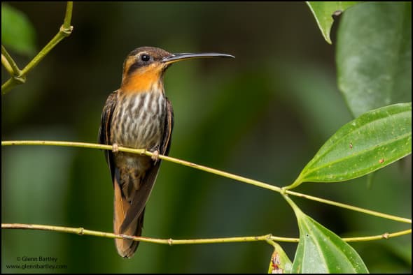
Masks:
[[[165,96],[154,92],[125,95],[118,103],[111,142],[137,149],[159,149],[165,128]]]

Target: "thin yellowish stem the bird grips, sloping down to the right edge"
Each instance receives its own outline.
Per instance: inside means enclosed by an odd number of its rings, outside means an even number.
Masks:
[[[6,145],[52,145],[52,146],[66,146],[66,147],[83,147],[83,148],[92,148],[92,149],[106,149],[106,150],[113,150],[113,146],[111,145],[104,145],[104,144],[94,144],[94,143],[85,143],[85,142],[57,142],[57,141],[45,141],[45,140],[15,140],[15,141],[2,141],[1,142],[1,146],[6,146]],[[153,153],[151,153],[151,151],[147,151],[146,149],[132,149],[132,148],[127,148],[127,147],[116,147],[116,150],[118,151],[125,151],[125,152],[129,152],[129,153],[134,153],[134,154],[144,154],[146,156],[153,156]],[[208,168],[207,166],[203,166],[203,165],[197,165],[195,163],[190,163],[189,161],[182,161],[179,158],[172,158],[170,156],[162,156],[159,155],[158,158],[165,160],[165,161],[170,161],[173,163],[178,163],[181,165],[186,165],[188,167],[192,167],[198,170],[202,170],[205,172],[210,172],[211,174],[218,174],[222,177],[228,177],[229,179],[235,179],[237,181],[241,181],[244,182],[246,184],[252,184],[254,186],[258,186],[261,188],[265,188],[268,190],[272,190],[275,192],[279,192],[281,194],[288,194],[288,195],[295,195],[297,197],[301,197],[301,198],[306,198],[308,200],[315,200],[317,202],[323,202],[325,204],[328,205],[335,205],[337,207],[342,207],[345,209],[350,209],[353,211],[359,211],[365,214],[370,214],[372,216],[378,216],[381,218],[387,218],[389,220],[393,220],[393,221],[399,221],[402,223],[412,223],[411,219],[408,218],[402,218],[402,217],[398,217],[398,216],[393,216],[393,215],[388,215],[388,214],[383,214],[377,211],[372,211],[372,210],[368,210],[368,209],[363,209],[360,207],[354,207],[351,205],[346,205],[340,202],[333,202],[331,200],[325,200],[323,198],[317,198],[311,195],[305,195],[302,193],[297,193],[297,192],[293,192],[293,191],[288,191],[285,190],[283,188],[280,188],[278,186],[273,186],[270,184],[265,184],[264,182],[261,181],[256,181],[254,179],[248,179],[246,177],[241,177],[238,176],[236,174],[231,174],[228,172],[223,172],[221,170],[216,170],[213,168]]]

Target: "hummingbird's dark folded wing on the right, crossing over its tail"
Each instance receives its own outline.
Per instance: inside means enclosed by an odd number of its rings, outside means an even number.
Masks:
[[[167,98],[167,115],[165,117],[165,128],[164,137],[160,144],[160,154],[169,154],[169,148],[171,146],[172,130],[174,128],[174,110],[172,109],[171,102]],[[155,184],[156,177],[158,176],[158,170],[160,168],[160,161],[154,163],[153,167],[150,168],[145,176],[145,179],[141,182],[139,190],[135,191],[134,198],[132,200],[132,205],[128,209],[125,221],[123,221],[120,227],[120,232],[124,232],[134,220],[143,213],[145,209],[146,202],[148,201],[149,195]]]

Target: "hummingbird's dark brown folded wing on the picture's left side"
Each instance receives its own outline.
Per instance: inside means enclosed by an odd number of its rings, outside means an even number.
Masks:
[[[115,110],[116,103],[118,102],[118,91],[113,91],[106,99],[104,109],[102,111],[102,117],[100,121],[99,128],[99,143],[111,145],[111,121],[113,110]],[[109,165],[109,170],[111,172],[112,183],[115,177],[115,163],[113,163],[113,153],[110,150],[105,150],[106,163]]]

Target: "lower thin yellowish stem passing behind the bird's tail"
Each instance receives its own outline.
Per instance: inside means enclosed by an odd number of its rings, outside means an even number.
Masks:
[[[209,238],[209,239],[158,239],[151,237],[134,237],[122,234],[113,234],[111,232],[102,232],[96,230],[87,230],[85,228],[68,228],[66,226],[55,226],[55,225],[34,225],[26,223],[1,223],[1,228],[3,229],[29,229],[29,230],[46,230],[55,232],[65,232],[77,235],[90,235],[96,237],[104,237],[111,239],[133,239],[134,241],[146,241],[154,244],[169,244],[170,246],[174,244],[222,244],[222,243],[233,243],[233,242],[246,242],[246,241],[267,241],[267,243],[272,246],[276,246],[274,241],[283,242],[298,242],[300,239],[288,238],[288,237],[277,237],[271,234],[262,236],[247,236],[247,237],[228,237],[228,238]],[[377,239],[389,239],[393,237],[400,237],[403,235],[412,234],[412,230],[403,230],[394,233],[384,233],[383,235],[367,236],[367,237],[351,237],[343,238],[344,241],[374,241]]]

